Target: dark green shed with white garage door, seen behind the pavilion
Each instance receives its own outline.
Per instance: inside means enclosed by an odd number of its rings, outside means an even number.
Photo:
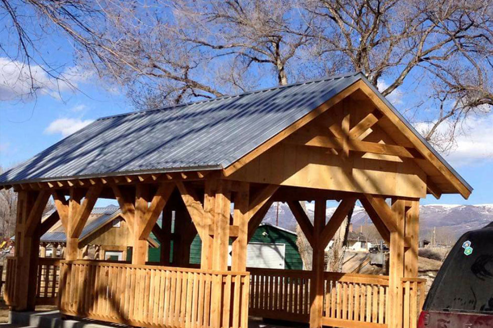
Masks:
[[[247,267],[302,270],[296,239],[297,234],[293,231],[268,223],[260,224],[248,243]],[[195,236],[190,246],[190,264],[200,264],[201,251],[202,242],[199,236]],[[149,248],[149,262],[159,262],[159,254],[160,247]]]

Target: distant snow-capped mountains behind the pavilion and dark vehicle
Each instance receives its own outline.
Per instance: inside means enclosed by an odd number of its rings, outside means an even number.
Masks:
[[[313,218],[314,203],[306,203],[306,209],[308,215]],[[327,216],[330,217],[335,209],[336,207],[328,207]],[[264,222],[275,225],[276,216],[278,216],[279,226],[289,230],[295,229],[296,221],[287,204],[274,203],[265,216]],[[354,208],[351,222],[355,229],[371,225],[371,220],[360,206]],[[422,238],[430,239],[431,231],[436,227],[437,233],[448,234],[451,239],[456,239],[468,230],[482,228],[491,222],[493,222],[493,204],[420,206],[420,236]]]

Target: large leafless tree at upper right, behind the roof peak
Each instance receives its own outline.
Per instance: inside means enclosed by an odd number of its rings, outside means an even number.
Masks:
[[[434,110],[421,132],[446,150],[466,115],[493,104],[492,8],[487,0],[310,0],[307,10],[319,19],[309,37],[319,39],[322,60],[344,58],[383,95],[405,83],[426,85],[414,105]]]

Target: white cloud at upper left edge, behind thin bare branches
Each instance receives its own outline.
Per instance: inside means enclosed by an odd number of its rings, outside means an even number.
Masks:
[[[56,79],[39,65],[29,67],[25,63],[0,57],[0,101],[29,101],[34,93],[59,99],[61,92],[74,90],[77,83],[86,81],[91,75],[91,72],[79,67],[69,67],[62,72],[63,79]]]

